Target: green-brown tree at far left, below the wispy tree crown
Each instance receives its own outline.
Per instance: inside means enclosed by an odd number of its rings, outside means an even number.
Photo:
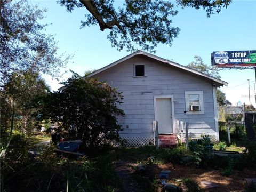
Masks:
[[[20,119],[19,124],[23,131],[30,132],[34,127],[34,119],[31,114],[34,113],[33,108],[28,109],[30,101],[39,95],[45,95],[50,91],[50,87],[46,85],[38,73],[32,70],[18,71],[13,73],[9,81],[4,85],[4,94],[1,97],[1,127],[6,129],[7,122],[12,116],[12,108],[14,108],[15,119]]]

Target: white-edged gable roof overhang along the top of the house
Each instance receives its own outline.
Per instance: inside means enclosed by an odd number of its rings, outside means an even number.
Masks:
[[[135,55],[145,55],[148,58],[155,59],[157,61],[161,61],[163,63],[166,63],[167,65],[171,65],[171,66],[177,67],[179,69],[182,69],[182,70],[188,71],[190,73],[193,73],[195,75],[208,78],[211,81],[213,81],[215,83],[215,85],[217,85],[218,87],[219,86],[223,86],[223,85],[228,86],[228,83],[225,82],[225,81],[222,81],[221,79],[218,79],[218,78],[215,78],[213,76],[207,75],[205,73],[202,73],[201,71],[198,71],[198,70],[195,70],[195,69],[192,69],[192,68],[180,65],[179,63],[175,63],[175,62],[169,61],[167,59],[163,59],[161,57],[157,57],[156,55],[153,55],[153,54],[147,53],[145,51],[141,51],[141,50],[138,50],[138,51],[136,51],[134,53],[131,53],[131,54],[127,55],[126,57],[122,58],[122,59],[119,59],[119,60],[117,60],[117,61],[115,61],[113,63],[110,63],[109,65],[107,65],[105,67],[102,67],[101,69],[95,70],[91,74],[87,75],[87,77],[92,77],[92,76],[94,76],[96,74],[99,74],[102,71],[105,71],[105,70],[107,70],[107,69],[109,69],[111,67],[114,67],[114,66],[118,65],[119,63],[121,63],[123,61],[126,61],[126,60],[134,57]]]

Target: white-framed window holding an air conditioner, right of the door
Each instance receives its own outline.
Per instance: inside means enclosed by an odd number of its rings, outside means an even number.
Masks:
[[[204,114],[203,91],[185,91],[187,115]]]

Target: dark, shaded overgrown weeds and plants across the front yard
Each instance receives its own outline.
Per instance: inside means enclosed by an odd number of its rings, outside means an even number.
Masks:
[[[31,154],[30,149],[33,149],[34,139],[31,140],[30,137],[17,131],[14,131],[13,139],[19,143],[12,142],[10,151],[4,159],[8,162],[8,166],[2,167],[6,191],[15,191],[17,187],[24,189],[23,191],[62,191],[66,190],[67,185],[70,191],[117,191],[121,188],[121,182],[113,167],[113,161],[117,159],[145,165],[149,172],[153,169],[150,174],[138,172],[133,175],[137,185],[145,191],[154,191],[161,186],[154,171],[156,165],[171,162],[184,166],[189,164],[212,167],[220,169],[223,175],[229,177],[235,169],[243,169],[255,164],[255,151],[253,151],[255,142],[254,145],[250,142],[246,148],[250,153],[241,157],[218,157],[211,153],[213,143],[207,135],[202,140],[190,141],[189,150],[180,143],[177,148],[169,150],[156,150],[155,146],[120,148],[115,149],[115,155],[102,150],[100,153],[90,151],[87,153],[89,156],[82,158],[58,156],[53,151],[55,146],[52,145],[37,145],[37,155]],[[196,158],[200,158],[200,161],[195,161]],[[182,183],[187,191],[202,191],[198,183],[191,179],[183,178]],[[252,186],[248,185],[247,188],[247,191],[250,191]]]

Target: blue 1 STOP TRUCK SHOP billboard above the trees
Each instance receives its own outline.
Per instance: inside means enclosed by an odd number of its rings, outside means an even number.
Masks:
[[[212,53],[215,67],[256,67],[256,50],[253,51],[215,51]]]

